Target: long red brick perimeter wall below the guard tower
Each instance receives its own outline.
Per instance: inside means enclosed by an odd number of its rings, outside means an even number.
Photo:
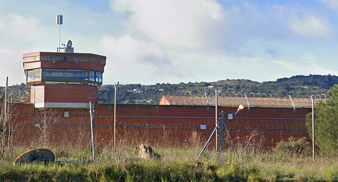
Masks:
[[[15,104],[12,109],[13,125],[18,131],[18,144],[41,143],[39,139],[42,137],[42,111],[33,108],[32,104]],[[184,146],[196,142],[204,145],[215,127],[215,107],[210,107],[208,111],[207,106],[160,105],[156,110],[155,105],[121,104],[117,105],[116,109],[117,141],[122,140],[135,146],[140,143]],[[293,112],[293,108],[253,107],[250,111],[244,108],[233,119],[227,119],[227,113],[236,110],[235,107],[218,107],[219,113],[226,113],[225,122],[237,145],[241,145],[252,132],[259,134],[252,142],[261,143],[264,148],[275,146],[277,142],[287,140],[290,136],[308,137],[305,117],[311,112],[310,108],[298,108],[296,112]],[[64,111],[69,112],[69,117],[64,117]],[[51,127],[49,143],[88,145],[89,114],[88,109],[56,110],[53,118],[57,122]],[[40,123],[40,127],[34,126],[35,123]],[[206,124],[207,129],[201,130],[200,124]],[[112,144],[114,105],[95,105],[94,125],[97,145]],[[225,130],[224,141],[229,143]],[[215,141],[212,141],[210,147],[214,145]],[[225,147],[229,146],[228,144]]]

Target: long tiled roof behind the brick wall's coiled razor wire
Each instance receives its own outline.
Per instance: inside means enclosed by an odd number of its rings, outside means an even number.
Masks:
[[[197,96],[176,96],[164,95],[163,98],[169,101],[170,105],[215,105],[215,97],[197,97]],[[315,99],[318,101],[325,101],[325,99]],[[312,107],[310,98],[292,98],[296,108]],[[218,106],[248,106],[250,107],[293,107],[292,101],[289,97],[285,98],[270,98],[270,97],[218,97]],[[161,103],[160,103],[161,104]]]

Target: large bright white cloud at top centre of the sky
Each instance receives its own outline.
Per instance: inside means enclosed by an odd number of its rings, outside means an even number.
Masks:
[[[224,25],[222,6],[212,0],[111,1],[110,6],[114,12],[129,14],[131,26],[166,46],[211,44]]]

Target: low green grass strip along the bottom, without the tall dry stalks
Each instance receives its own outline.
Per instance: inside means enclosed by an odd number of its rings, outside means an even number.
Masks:
[[[50,148],[59,159],[90,159],[89,148]],[[304,176],[284,178],[338,178],[338,156],[293,156],[276,152],[251,152],[239,150],[217,153],[206,151],[197,160],[200,148],[156,148],[163,160],[124,161],[137,157],[134,147],[122,146],[121,153],[111,148],[98,148],[98,158],[112,161],[94,163],[29,164],[14,166],[11,158],[0,159],[0,181],[18,182],[223,182],[268,181],[276,178],[271,173],[297,173]],[[25,148],[16,148],[19,155]],[[119,161],[120,158],[120,161]],[[282,178],[282,177],[279,177]]]

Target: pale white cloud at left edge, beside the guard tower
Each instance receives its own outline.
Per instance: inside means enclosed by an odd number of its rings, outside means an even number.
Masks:
[[[0,26],[0,77],[8,76],[11,81],[20,78],[18,80],[25,82],[22,54],[50,45],[50,39],[43,36],[44,30],[44,26],[33,16],[3,14]]]

